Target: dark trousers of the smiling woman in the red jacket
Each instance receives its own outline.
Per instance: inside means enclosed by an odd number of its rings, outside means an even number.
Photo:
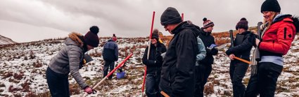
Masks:
[[[281,74],[283,66],[264,62],[257,64],[257,75],[250,76],[246,89],[246,97],[274,97],[277,78]]]

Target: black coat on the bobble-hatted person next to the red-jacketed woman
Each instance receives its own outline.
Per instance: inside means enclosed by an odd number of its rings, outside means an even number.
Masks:
[[[253,39],[255,35],[250,31],[237,33],[234,39],[234,47],[227,50],[227,55],[234,54],[236,57],[250,61],[250,50],[253,48]]]

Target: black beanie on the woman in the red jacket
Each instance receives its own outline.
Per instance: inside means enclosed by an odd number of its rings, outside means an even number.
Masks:
[[[280,13],[280,6],[277,0],[266,0],[262,3],[262,7],[260,8],[260,12],[263,11],[274,11]]]

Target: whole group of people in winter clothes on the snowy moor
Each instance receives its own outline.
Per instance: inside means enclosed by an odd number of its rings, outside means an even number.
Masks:
[[[262,3],[261,13],[264,22],[261,26],[261,39],[248,31],[245,17],[236,24],[234,44],[226,51],[231,59],[229,75],[234,96],[274,96],[277,78],[284,66],[283,55],[291,47],[295,33],[299,30],[298,18],[280,13],[278,1],[266,0]],[[191,21],[183,21],[177,9],[169,7],[160,17],[165,31],[174,34],[168,47],[160,38],[158,29],[153,31],[151,47],[146,47],[142,63],[147,67],[146,95],[162,96],[160,91],[174,96],[204,96],[203,91],[214,63],[213,55],[218,54],[215,38],[211,35],[215,24],[203,18],[203,27]],[[68,74],[75,78],[79,87],[88,94],[96,90],[89,87],[79,74],[79,69],[86,62],[84,53],[98,47],[98,27],[90,27],[82,36],[72,32],[65,40],[65,47],[51,59],[46,70],[46,80],[51,96],[70,96]],[[108,69],[113,70],[118,59],[118,47],[113,38],[103,46],[105,61],[103,77]],[[261,60],[257,62],[257,75],[250,76],[247,88],[242,83],[249,64],[234,59],[239,57],[250,61],[250,50],[255,47],[260,51]],[[109,77],[111,79],[112,76]]]

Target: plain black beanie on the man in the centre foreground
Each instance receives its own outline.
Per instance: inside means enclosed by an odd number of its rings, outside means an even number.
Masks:
[[[161,24],[164,26],[165,24],[177,24],[182,22],[182,17],[179,15],[177,9],[169,7],[167,8],[163,14],[161,15]]]

